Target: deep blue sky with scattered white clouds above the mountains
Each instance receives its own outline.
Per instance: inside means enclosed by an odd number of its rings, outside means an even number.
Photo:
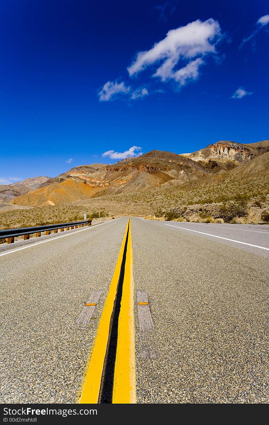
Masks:
[[[267,1],[0,9],[0,184],[269,138]]]

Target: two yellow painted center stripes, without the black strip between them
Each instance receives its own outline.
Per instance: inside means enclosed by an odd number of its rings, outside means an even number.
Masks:
[[[105,355],[108,346],[110,320],[116,299],[117,286],[122,265],[125,242],[128,234],[130,218],[127,224],[119,258],[108,296],[102,311],[99,326],[91,354],[82,378],[77,402],[98,403],[102,382]],[[125,323],[126,322],[126,323]],[[131,235],[129,231],[123,281],[122,301],[119,314],[118,342],[114,371],[113,403],[135,403],[135,354],[134,354],[134,318],[133,318],[133,264]]]

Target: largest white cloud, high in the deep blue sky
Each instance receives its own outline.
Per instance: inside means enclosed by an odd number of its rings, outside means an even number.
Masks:
[[[136,60],[127,68],[130,76],[136,75],[150,65],[162,62],[153,74],[165,82],[174,79],[179,85],[198,77],[198,68],[204,63],[202,57],[215,54],[215,45],[221,38],[218,21],[199,19],[186,26],[168,31],[167,36],[148,51],[139,52]],[[178,62],[182,68],[175,71]],[[188,61],[187,65],[186,61]]]

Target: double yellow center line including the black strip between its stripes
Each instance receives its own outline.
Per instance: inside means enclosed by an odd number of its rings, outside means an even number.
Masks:
[[[136,403],[130,226],[129,218],[82,379],[79,403]]]

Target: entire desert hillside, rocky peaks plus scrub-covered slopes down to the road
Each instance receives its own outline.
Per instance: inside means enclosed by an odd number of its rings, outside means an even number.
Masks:
[[[13,185],[3,186],[2,190],[16,194]],[[114,215],[153,215],[182,206],[195,210],[233,202],[238,197],[258,208],[258,218],[267,208],[269,141],[217,142],[182,155],[153,150],[116,164],[74,167],[45,179],[36,190],[17,192],[11,203],[2,202],[0,227],[35,225],[59,217],[73,220],[83,217],[84,212],[90,215],[99,210]]]

